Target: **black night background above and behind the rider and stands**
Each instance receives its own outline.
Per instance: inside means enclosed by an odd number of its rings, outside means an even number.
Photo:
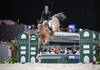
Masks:
[[[77,28],[100,31],[98,0],[0,0],[0,19],[20,19],[24,24],[32,21],[36,25],[45,4],[52,15],[64,12],[64,27],[74,23]]]

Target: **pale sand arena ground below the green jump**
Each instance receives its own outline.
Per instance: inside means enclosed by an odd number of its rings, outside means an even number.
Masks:
[[[0,64],[0,70],[100,70],[100,65],[93,64]]]

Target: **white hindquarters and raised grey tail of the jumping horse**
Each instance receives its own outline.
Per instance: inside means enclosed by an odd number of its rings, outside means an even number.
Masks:
[[[66,16],[63,14],[63,12],[57,13],[51,17],[51,20],[48,22],[46,20],[43,21],[42,24],[48,24],[49,28],[52,29],[52,32],[60,31],[60,20],[64,20]]]

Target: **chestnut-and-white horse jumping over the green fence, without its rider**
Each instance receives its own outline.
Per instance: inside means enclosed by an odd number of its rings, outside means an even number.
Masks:
[[[56,32],[60,31],[60,22],[59,19],[63,20],[66,16],[63,14],[63,12],[57,13],[51,17],[51,20],[44,21],[42,24],[38,22],[38,30],[39,33],[39,42],[40,44],[45,45],[48,41],[50,36]],[[50,31],[51,28],[51,31]]]

